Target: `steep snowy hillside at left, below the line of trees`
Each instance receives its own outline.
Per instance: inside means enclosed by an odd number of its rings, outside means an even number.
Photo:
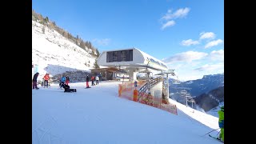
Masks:
[[[40,76],[46,73],[55,75],[66,71],[90,70],[96,59],[90,53],[91,50],[83,50],[56,30],[32,21],[32,64],[38,65]]]

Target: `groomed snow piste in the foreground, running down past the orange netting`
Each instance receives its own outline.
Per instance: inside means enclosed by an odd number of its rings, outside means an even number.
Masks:
[[[58,84],[32,90],[32,142],[114,144],[214,144],[206,133],[218,129],[218,118],[170,99],[178,115],[118,97],[118,83],[70,83],[76,93]],[[204,136],[204,134],[206,134]],[[217,130],[210,133],[214,136]]]

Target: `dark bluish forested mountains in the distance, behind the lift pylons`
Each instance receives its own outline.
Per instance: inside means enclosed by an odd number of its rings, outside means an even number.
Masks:
[[[218,117],[219,106],[224,105],[224,74],[205,75],[202,79],[180,82],[170,78],[170,98],[186,105],[179,92],[186,90],[194,98],[193,108]],[[192,103],[188,102],[192,107]]]

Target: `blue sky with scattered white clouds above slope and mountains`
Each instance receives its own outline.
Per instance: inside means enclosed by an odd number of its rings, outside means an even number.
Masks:
[[[44,0],[32,9],[100,52],[136,47],[179,80],[224,73],[223,0]]]

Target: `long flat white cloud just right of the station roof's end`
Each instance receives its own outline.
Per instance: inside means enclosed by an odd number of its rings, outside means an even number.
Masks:
[[[166,58],[163,62],[174,63],[174,62],[192,62],[194,60],[199,60],[205,58],[208,54],[197,52],[197,51],[186,51],[184,53],[175,54],[173,57]]]

